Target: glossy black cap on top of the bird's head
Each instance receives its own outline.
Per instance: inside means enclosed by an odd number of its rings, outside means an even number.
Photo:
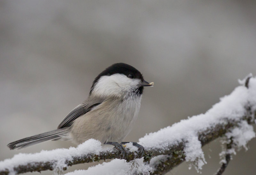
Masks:
[[[130,66],[129,64],[125,63],[115,63],[105,70],[103,70],[93,81],[90,94],[92,93],[94,84],[100,79],[101,76],[111,76],[113,74],[124,74],[128,77],[129,74],[132,74],[134,78],[141,79],[144,81],[142,74],[136,68]]]

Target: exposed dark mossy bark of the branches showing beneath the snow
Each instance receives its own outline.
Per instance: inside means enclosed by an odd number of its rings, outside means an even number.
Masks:
[[[245,84],[246,87],[248,87],[248,84],[249,84],[249,79],[247,80]],[[252,105],[252,102],[248,100],[248,103],[245,104],[244,106],[244,111],[245,111],[244,115],[241,115],[240,117],[236,116],[236,118],[232,118],[230,116],[222,116],[221,121],[219,123],[213,123],[210,127],[207,127],[203,130],[199,129],[198,131],[196,131],[198,140],[201,142],[201,146],[204,146],[205,144],[213,141],[214,139],[222,137],[225,133],[229,132],[230,129],[238,127],[241,121],[247,121],[249,124],[252,124],[255,120],[256,111],[255,110],[252,111],[252,107],[250,105]],[[230,110],[233,110],[233,109],[230,109]],[[145,164],[150,163],[150,166],[152,167],[152,170],[149,172],[151,174],[164,174],[170,171],[173,167],[185,161],[187,153],[184,149],[187,143],[188,141],[183,139],[182,141],[179,141],[179,142],[167,143],[168,145],[167,146],[164,145],[163,147],[161,145],[159,145],[159,147],[145,147],[144,162]],[[143,141],[140,144],[143,145]],[[156,157],[158,155],[164,155],[164,157],[162,157],[162,159],[155,162],[151,161],[153,157]],[[25,156],[29,156],[29,155],[25,155]],[[38,162],[28,161],[25,164],[20,164],[20,165],[13,164],[12,161],[10,161],[9,164],[6,163],[6,161],[2,161],[0,162],[0,175],[7,175],[10,172],[15,172],[19,174],[19,173],[33,172],[33,171],[40,172],[45,170],[66,170],[68,166],[72,166],[79,163],[89,163],[89,162],[96,162],[100,160],[115,159],[115,158],[121,159],[122,156],[120,155],[120,152],[114,148],[113,150],[100,151],[98,154],[89,153],[85,155],[71,156],[71,158],[66,159],[64,161],[64,164],[66,166],[58,166],[58,162],[60,161],[59,157],[55,159],[53,158],[49,161],[38,161]],[[135,160],[137,158],[139,158],[139,155],[137,155],[137,152],[136,151],[131,152],[129,150],[127,150],[127,154],[124,157],[124,159],[127,160],[127,162]],[[140,174],[140,173],[137,172],[137,174]]]

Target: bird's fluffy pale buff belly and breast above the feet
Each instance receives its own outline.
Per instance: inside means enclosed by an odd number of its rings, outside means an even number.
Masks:
[[[128,104],[112,103],[108,111],[105,109],[99,107],[77,118],[71,127],[70,139],[77,144],[91,138],[101,143],[122,142],[137,119],[140,99],[130,100]]]

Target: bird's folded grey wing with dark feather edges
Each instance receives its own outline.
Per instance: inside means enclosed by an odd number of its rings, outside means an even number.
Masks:
[[[103,101],[103,99],[97,99],[93,101],[87,100],[84,103],[78,105],[62,120],[58,126],[58,129],[71,126],[74,120],[91,111],[93,107],[98,106]]]

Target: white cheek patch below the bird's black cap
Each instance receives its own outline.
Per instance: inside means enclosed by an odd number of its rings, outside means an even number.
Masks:
[[[121,96],[124,91],[130,91],[140,84],[139,79],[131,79],[124,74],[113,74],[102,76],[94,85],[92,93],[95,95],[116,95]]]

